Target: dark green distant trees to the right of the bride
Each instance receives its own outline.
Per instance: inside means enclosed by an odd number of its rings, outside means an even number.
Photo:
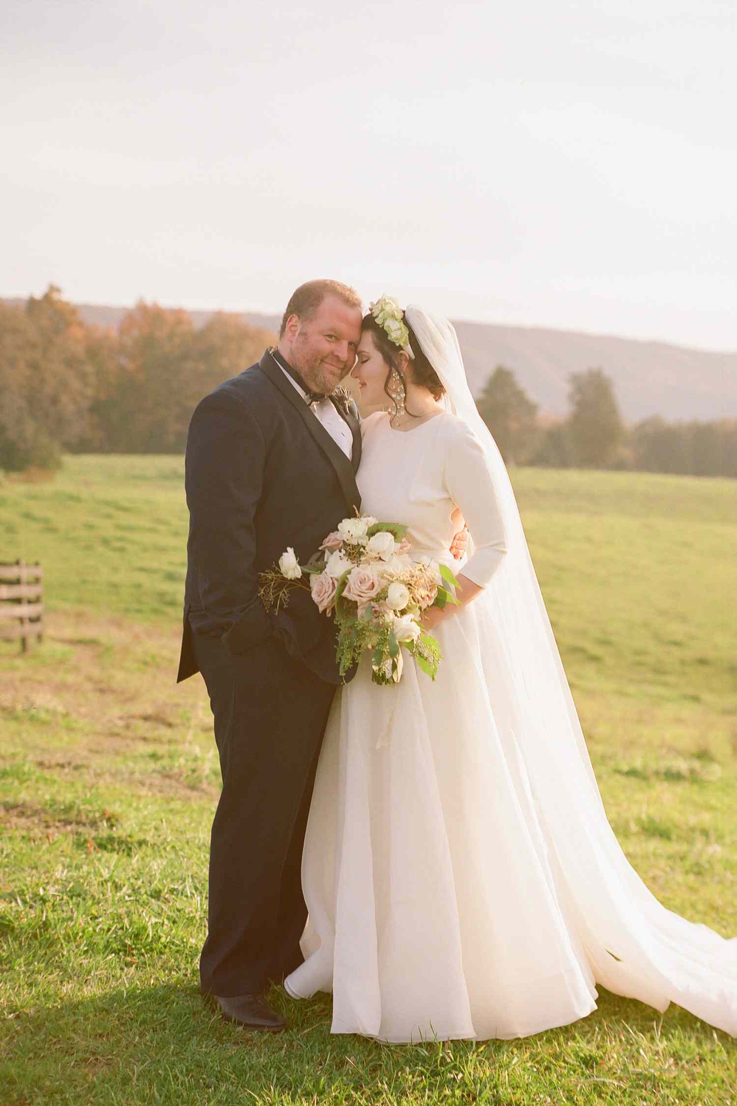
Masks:
[[[512,369],[499,365],[477,405],[507,465],[737,477],[737,418],[670,422],[655,415],[627,427],[601,368],[571,373],[568,400],[565,418],[541,419]]]

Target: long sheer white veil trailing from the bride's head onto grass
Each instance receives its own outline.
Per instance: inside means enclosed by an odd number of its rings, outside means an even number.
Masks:
[[[445,388],[445,406],[482,442],[494,481],[507,553],[474,602],[505,657],[495,696],[505,699],[499,714],[513,720],[561,907],[597,982],[659,1010],[676,1002],[737,1035],[737,938],[663,907],[607,821],[512,482],[476,409],[455,330],[414,305],[404,319]]]

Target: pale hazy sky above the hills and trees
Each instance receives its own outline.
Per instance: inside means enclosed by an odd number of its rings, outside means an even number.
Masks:
[[[736,0],[2,0],[0,295],[737,349]]]

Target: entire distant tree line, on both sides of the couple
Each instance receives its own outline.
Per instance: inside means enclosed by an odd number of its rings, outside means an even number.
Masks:
[[[235,315],[196,327],[147,303],[118,330],[87,326],[53,285],[0,303],[0,470],[54,469],[64,451],[182,452],[202,396],[273,341]],[[507,463],[737,477],[737,419],[625,427],[601,368],[570,374],[570,410],[555,421],[501,365],[477,403]]]

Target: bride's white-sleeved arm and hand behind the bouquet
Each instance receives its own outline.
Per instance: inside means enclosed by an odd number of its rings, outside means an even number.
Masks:
[[[464,607],[488,584],[502,563],[507,543],[485,451],[463,424],[456,428],[448,450],[444,484],[448,494],[462,511],[475,546],[463,572],[456,573],[460,586],[455,597]],[[431,607],[422,619],[423,625],[431,629],[459,609],[453,604],[443,611]]]

